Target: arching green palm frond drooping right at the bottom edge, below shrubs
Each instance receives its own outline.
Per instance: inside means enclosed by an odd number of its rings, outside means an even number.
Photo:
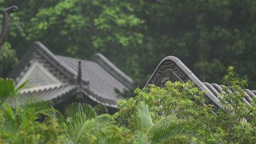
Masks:
[[[152,144],[164,142],[170,138],[183,135],[198,138],[205,143],[211,142],[212,136],[202,128],[193,126],[187,121],[174,121],[172,119],[172,116],[166,117],[149,129],[147,135],[152,141]]]

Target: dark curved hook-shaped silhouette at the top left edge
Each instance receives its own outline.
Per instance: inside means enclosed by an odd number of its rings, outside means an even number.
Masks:
[[[17,6],[11,6],[3,11],[3,21],[2,21],[2,29],[0,32],[0,46],[7,40],[7,32],[9,25],[9,15],[12,12],[17,11]]]

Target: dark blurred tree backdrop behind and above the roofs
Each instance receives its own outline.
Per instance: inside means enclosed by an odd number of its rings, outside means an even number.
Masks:
[[[101,52],[140,87],[168,55],[202,81],[219,83],[232,65],[256,87],[255,0],[0,0],[1,10],[11,5],[19,9],[11,16],[12,49],[0,53],[0,63],[9,63],[0,65],[2,77],[41,41],[82,59]]]

